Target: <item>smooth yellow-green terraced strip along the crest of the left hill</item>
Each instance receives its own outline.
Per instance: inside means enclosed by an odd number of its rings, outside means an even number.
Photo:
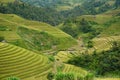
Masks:
[[[45,31],[55,37],[70,37],[70,35],[46,23],[30,21],[14,14],[0,14],[0,19],[7,23],[16,24],[37,31]]]

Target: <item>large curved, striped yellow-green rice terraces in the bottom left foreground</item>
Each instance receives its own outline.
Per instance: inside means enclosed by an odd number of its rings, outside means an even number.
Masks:
[[[0,80],[16,76],[22,80],[46,80],[52,71],[47,57],[26,49],[0,43]]]

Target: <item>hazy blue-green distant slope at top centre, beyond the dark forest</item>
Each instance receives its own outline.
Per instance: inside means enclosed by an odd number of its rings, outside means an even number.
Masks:
[[[22,0],[22,1],[38,7],[55,7],[57,10],[72,9],[83,2],[82,0]]]

